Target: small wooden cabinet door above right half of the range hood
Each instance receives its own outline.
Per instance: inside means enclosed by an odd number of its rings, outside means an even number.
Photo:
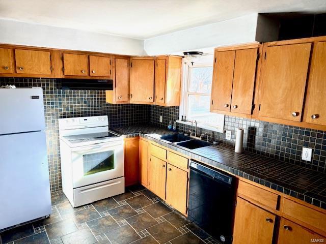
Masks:
[[[111,76],[111,58],[90,55],[91,76]]]

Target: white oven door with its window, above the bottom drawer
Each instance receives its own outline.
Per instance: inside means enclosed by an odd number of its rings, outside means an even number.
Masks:
[[[123,141],[76,147],[71,156],[73,188],[123,176]]]

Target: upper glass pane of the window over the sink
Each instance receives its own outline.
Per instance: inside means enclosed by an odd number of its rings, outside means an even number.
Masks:
[[[189,92],[210,94],[212,88],[213,67],[191,68]]]

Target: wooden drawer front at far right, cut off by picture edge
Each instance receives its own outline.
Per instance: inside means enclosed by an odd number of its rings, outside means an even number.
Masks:
[[[326,214],[315,209],[284,198],[283,214],[326,232]]]

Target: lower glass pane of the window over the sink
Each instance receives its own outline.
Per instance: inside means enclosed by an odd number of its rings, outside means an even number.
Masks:
[[[188,118],[209,114],[209,96],[189,95],[188,97]]]

